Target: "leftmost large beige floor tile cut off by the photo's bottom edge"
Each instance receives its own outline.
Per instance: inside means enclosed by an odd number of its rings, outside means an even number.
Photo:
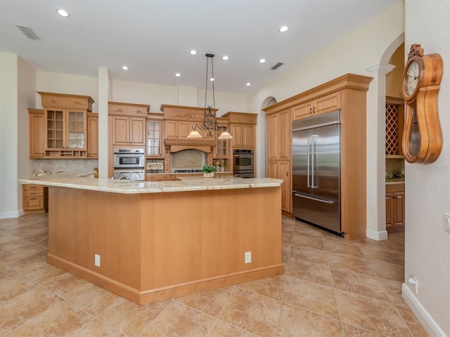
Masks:
[[[72,336],[92,319],[88,313],[63,301],[19,326],[8,337]]]

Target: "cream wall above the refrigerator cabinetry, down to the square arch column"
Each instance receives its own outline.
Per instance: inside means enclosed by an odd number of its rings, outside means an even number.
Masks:
[[[399,3],[321,51],[309,55],[293,70],[281,72],[269,85],[252,93],[248,103],[250,111],[259,112],[264,100],[270,96],[280,102],[347,73],[375,77],[367,93],[367,120],[371,126],[367,136],[367,228],[369,232],[380,233],[380,237],[385,232],[385,112],[383,104],[382,111],[379,111],[379,97],[381,95],[383,98],[385,93],[380,93],[379,84],[383,83],[384,86],[385,82],[384,74],[378,79],[380,74],[369,72],[367,68],[380,64],[387,49],[403,34],[404,6]],[[392,53],[396,48],[393,48]],[[264,112],[259,112],[259,115],[262,119]],[[258,172],[263,175],[264,152],[264,148],[257,149]]]

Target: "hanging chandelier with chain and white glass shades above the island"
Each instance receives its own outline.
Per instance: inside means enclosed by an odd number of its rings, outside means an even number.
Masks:
[[[206,86],[205,86],[205,114],[203,115],[203,123],[198,125],[194,124],[192,126],[192,131],[189,133],[188,138],[202,138],[202,135],[197,131],[197,128],[200,130],[207,130],[206,137],[212,137],[213,131],[224,130],[219,139],[231,139],[231,136],[228,132],[226,132],[226,126],[217,125],[217,118],[215,116],[216,112],[216,98],[214,96],[214,65],[212,64],[212,58],[214,58],[214,54],[207,53],[206,56]],[[209,65],[211,61],[211,76],[209,76]],[[208,92],[208,81],[212,82],[212,106],[207,105],[207,92]],[[213,113],[214,112],[214,113]]]

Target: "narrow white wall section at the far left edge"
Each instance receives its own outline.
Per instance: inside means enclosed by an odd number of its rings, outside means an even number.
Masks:
[[[18,204],[18,56],[0,53],[0,218],[16,218]]]

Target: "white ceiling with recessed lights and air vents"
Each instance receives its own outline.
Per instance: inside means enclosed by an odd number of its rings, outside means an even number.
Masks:
[[[0,51],[46,72],[97,77],[106,67],[113,79],[198,88],[214,53],[215,90],[246,94],[399,1],[0,0]]]

